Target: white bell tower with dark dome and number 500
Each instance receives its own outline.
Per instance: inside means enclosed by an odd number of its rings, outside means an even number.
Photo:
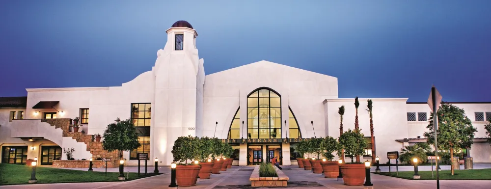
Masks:
[[[169,165],[179,136],[200,136],[203,117],[203,59],[196,49],[198,36],[186,21],[166,30],[167,43],[155,62],[155,105],[151,135],[154,157]]]

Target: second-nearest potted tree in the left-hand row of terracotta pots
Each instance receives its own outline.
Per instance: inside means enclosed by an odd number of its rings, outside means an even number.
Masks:
[[[200,162],[201,169],[199,169],[199,179],[210,179],[214,162],[210,159],[213,153],[213,139],[208,136],[201,137],[200,139]]]

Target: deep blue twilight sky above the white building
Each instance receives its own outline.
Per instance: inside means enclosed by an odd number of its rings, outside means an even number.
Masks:
[[[0,96],[121,86],[186,20],[207,75],[268,60],[337,77],[339,98],[491,101],[490,18],[491,0],[1,0]]]

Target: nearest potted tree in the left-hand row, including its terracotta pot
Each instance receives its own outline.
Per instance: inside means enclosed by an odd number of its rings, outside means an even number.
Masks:
[[[179,187],[191,187],[196,185],[201,165],[188,163],[198,159],[200,153],[200,141],[195,136],[179,136],[172,146],[172,158],[176,165],[176,182]]]

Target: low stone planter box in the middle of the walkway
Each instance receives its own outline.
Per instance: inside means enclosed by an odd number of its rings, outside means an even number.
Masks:
[[[249,178],[251,187],[286,187],[290,178],[278,167],[273,167],[278,177],[259,177],[259,165],[256,165]]]

